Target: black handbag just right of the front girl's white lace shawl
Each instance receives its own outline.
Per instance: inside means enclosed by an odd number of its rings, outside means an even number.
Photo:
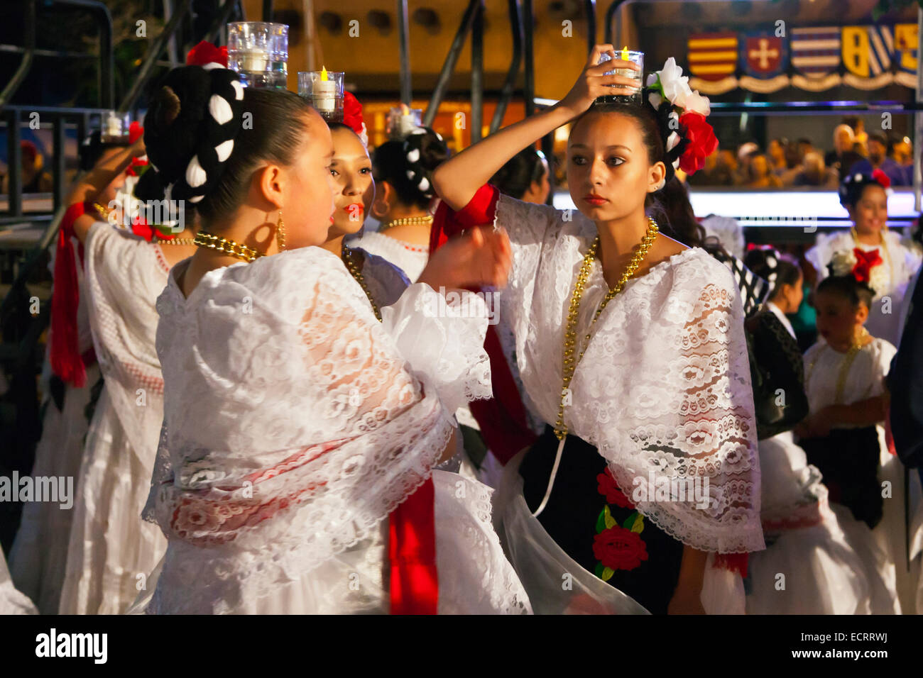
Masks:
[[[772,312],[761,310],[744,323],[757,435],[790,431],[808,416],[804,362],[796,340]]]

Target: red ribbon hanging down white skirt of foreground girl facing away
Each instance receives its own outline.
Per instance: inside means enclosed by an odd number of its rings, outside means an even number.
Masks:
[[[391,614],[436,614],[435,487],[427,478],[389,517]]]

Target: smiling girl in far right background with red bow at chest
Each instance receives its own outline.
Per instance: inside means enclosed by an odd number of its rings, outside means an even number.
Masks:
[[[869,257],[875,297],[869,308],[868,328],[873,337],[896,344],[897,328],[904,305],[907,282],[920,267],[920,256],[901,243],[901,236],[888,231],[888,193],[891,180],[881,170],[869,174],[847,174],[840,183],[840,203],[849,212],[853,227],[848,232],[821,233],[805,258],[826,278],[828,265],[837,251],[859,249]]]

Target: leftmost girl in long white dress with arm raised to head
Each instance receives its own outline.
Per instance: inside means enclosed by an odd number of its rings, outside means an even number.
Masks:
[[[101,161],[71,189],[69,204],[100,205],[106,212],[103,189],[142,155],[138,138]],[[106,387],[78,474],[60,613],[125,612],[166,545],[139,517],[163,419],[155,303],[170,267],[195,251],[193,232],[186,228],[148,242],[113,228],[100,212],[74,220],[85,251],[90,327]]]

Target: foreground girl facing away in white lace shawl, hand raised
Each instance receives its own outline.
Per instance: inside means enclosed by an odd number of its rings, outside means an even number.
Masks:
[[[431,285],[502,284],[502,233],[464,239],[379,322],[340,257],[309,246],[335,220],[333,152],[301,98],[178,68],[147,122],[155,176],[204,229],[158,301],[167,398],[146,517],[169,545],[147,611],[528,611],[486,540],[487,495],[452,475],[449,504],[428,480],[454,452],[452,411],[489,388],[483,304]],[[428,525],[386,519],[427,492]],[[426,541],[445,520],[451,534]]]

